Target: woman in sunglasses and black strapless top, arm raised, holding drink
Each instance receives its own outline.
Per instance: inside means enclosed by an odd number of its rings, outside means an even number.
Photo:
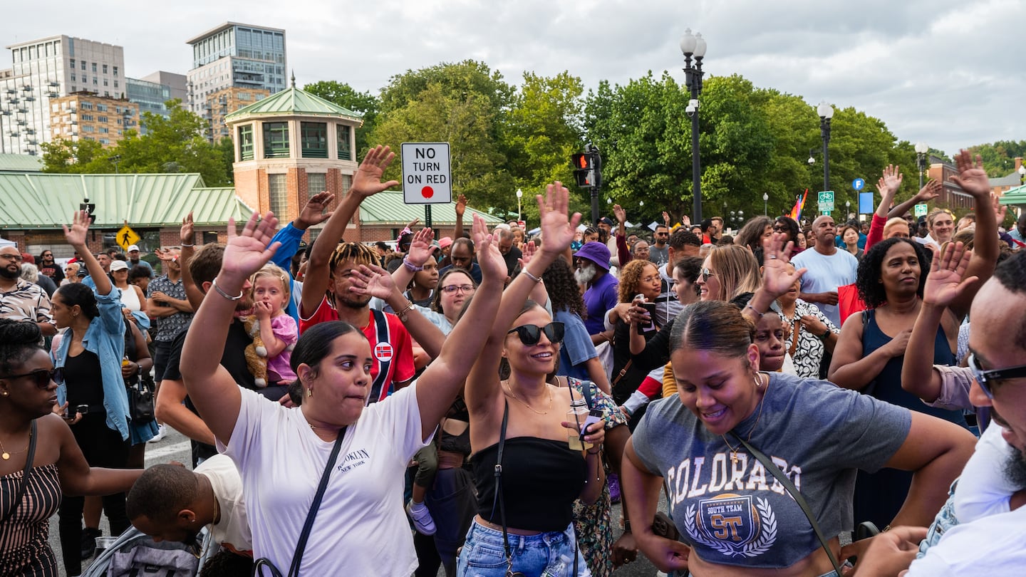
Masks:
[[[478,514],[460,554],[461,577],[588,571],[576,546],[573,507],[579,497],[595,502],[602,491],[603,426],[593,423],[582,431],[577,422],[565,420],[573,389],[547,382],[559,356],[563,326],[532,301],[525,303],[542,273],[574,238],[581,215],[567,219],[568,197],[558,182],[547,187],[544,199],[538,196],[541,248],[503,295],[484,349],[467,378]],[[505,379],[500,378],[501,360],[509,367]],[[582,432],[583,445],[578,443]]]

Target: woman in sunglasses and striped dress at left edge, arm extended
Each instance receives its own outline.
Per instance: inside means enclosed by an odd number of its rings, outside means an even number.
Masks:
[[[41,341],[35,322],[0,318],[0,573],[4,575],[55,577],[56,559],[48,536],[62,495],[122,493],[142,474],[142,470],[90,468],[68,424],[52,414],[63,370],[53,369]],[[33,441],[35,456],[25,477]],[[24,493],[14,503],[23,478]],[[76,542],[76,561],[78,553]]]

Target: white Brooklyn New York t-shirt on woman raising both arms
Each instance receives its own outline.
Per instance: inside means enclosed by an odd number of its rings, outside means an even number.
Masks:
[[[284,574],[334,444],[314,434],[299,409],[241,392],[231,443],[219,441],[218,450],[242,475],[253,557]],[[417,554],[402,495],[406,464],[425,446],[416,383],[363,409],[346,430],[301,575],[412,575]]]

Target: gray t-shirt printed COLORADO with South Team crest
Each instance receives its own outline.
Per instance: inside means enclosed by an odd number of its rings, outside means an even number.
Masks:
[[[801,492],[824,535],[852,530],[856,469],[876,471],[908,435],[907,409],[826,381],[770,374],[750,443]],[[735,427],[747,438],[757,411]],[[669,488],[683,540],[710,563],[784,568],[820,547],[784,486],[733,437],[732,462],[714,435],[674,395],[653,402],[632,437],[634,452]]]

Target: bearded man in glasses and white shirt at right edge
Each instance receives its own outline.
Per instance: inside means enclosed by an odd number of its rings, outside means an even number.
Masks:
[[[949,529],[940,542],[926,550],[922,559],[909,567],[907,577],[939,575],[1018,575],[1026,567],[1026,253],[1017,253],[1001,263],[976,299],[970,313],[969,366],[975,377],[969,400],[976,407],[989,408],[991,427],[1000,427],[1000,436],[1010,446],[991,454],[988,474],[975,475],[973,460],[962,479],[972,477],[971,495],[956,488],[959,501],[977,503],[990,497],[980,476],[998,479],[1004,485],[1007,507],[970,523]],[[1007,330],[995,330],[1005,328]],[[989,429],[988,429],[989,430]],[[992,436],[984,433],[985,437]],[[985,438],[984,441],[989,439]],[[994,439],[999,440],[999,439]],[[981,443],[984,443],[981,441]],[[978,452],[981,449],[978,448]],[[976,459],[976,456],[974,456]],[[959,482],[959,485],[965,483]],[[993,484],[992,484],[993,485]],[[991,487],[992,489],[992,487]],[[960,514],[960,513],[959,513]],[[925,529],[898,527],[873,539],[856,567],[857,575],[893,575],[906,567]]]

